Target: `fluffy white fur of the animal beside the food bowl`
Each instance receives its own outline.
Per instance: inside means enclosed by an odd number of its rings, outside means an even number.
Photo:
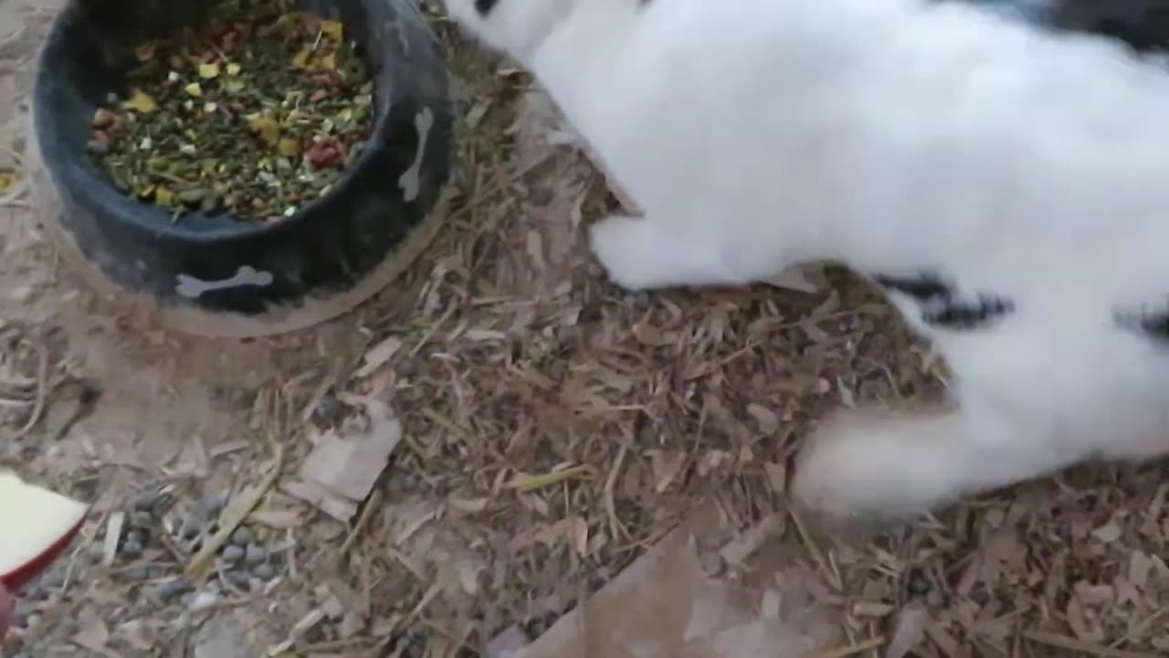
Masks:
[[[630,289],[796,262],[942,273],[1014,311],[920,320],[954,406],[846,412],[794,495],[901,518],[1091,457],[1169,452],[1169,74],[1116,42],[919,0],[447,0],[528,67],[645,210],[590,231]]]

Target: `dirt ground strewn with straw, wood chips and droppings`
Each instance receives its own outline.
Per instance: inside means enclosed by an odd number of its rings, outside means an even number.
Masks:
[[[766,583],[687,548],[712,581],[808,629],[809,610],[831,619],[808,656],[1169,652],[1158,465],[1030,482],[864,544],[789,515],[808,429],[935,395],[928,350],[841,273],[812,293],[616,290],[580,233],[617,203],[603,177],[528,81],[449,26],[459,194],[410,274],[268,340],[193,338],[97,297],[46,241],[22,167],[56,5],[0,0],[0,465],[95,514],[23,592],[5,656],[487,654],[701,506],[720,541],[767,534],[743,567]],[[368,499],[306,502],[306,457],[337,436],[390,465]]]

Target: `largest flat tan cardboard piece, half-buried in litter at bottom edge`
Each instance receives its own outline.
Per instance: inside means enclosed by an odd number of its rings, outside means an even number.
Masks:
[[[779,525],[773,520],[761,526],[774,530]],[[800,658],[835,646],[838,624],[830,610],[781,611],[780,602],[789,592],[773,587],[775,569],[752,568],[741,578],[712,576],[704,569],[699,543],[705,543],[703,537],[728,534],[728,527],[713,506],[700,510],[544,636],[504,654]],[[740,537],[728,546],[743,544],[768,551],[758,537]],[[739,549],[728,553],[741,557]]]

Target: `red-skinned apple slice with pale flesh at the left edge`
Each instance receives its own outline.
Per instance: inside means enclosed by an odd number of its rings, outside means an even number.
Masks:
[[[0,583],[20,588],[61,554],[89,506],[0,471]]]

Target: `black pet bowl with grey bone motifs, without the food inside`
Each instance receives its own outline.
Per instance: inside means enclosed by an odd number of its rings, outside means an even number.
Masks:
[[[274,224],[198,213],[172,221],[165,208],[125,197],[87,153],[99,103],[110,91],[125,96],[133,44],[193,25],[205,0],[75,0],[57,16],[41,53],[34,130],[54,217],[87,265],[162,309],[258,321],[352,297],[387,262],[413,258],[403,252],[428,224],[452,165],[450,85],[437,44],[404,0],[298,5],[340,20],[358,43],[374,76],[375,124],[328,193]]]

